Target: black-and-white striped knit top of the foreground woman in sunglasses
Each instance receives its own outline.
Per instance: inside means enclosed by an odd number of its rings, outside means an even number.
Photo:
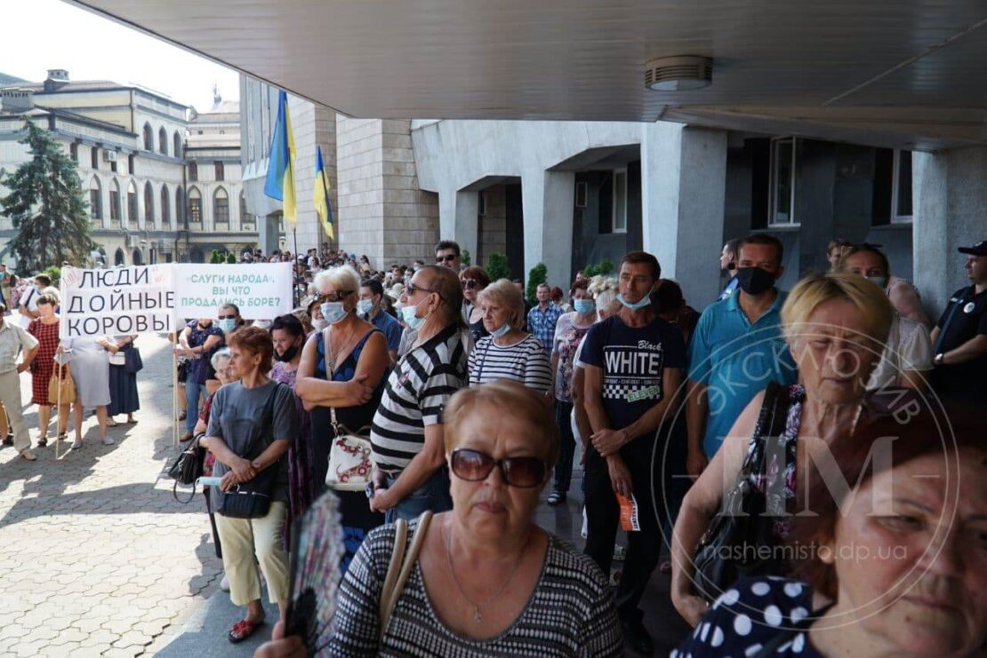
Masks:
[[[433,522],[434,524],[438,521]],[[409,542],[418,520],[408,524]],[[421,569],[412,569],[384,636],[379,601],[394,552],[394,525],[375,528],[363,540],[340,585],[335,632],[325,652],[344,656],[519,656],[553,658],[623,655],[613,593],[596,563],[549,535],[541,575],[527,605],[498,635],[475,639],[456,632],[435,614]],[[407,551],[407,547],[406,547]],[[420,558],[419,558],[420,559]]]

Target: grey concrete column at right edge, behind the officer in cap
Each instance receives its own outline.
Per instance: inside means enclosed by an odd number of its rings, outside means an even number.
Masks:
[[[934,321],[969,286],[956,251],[987,239],[987,148],[912,154],[914,281]]]

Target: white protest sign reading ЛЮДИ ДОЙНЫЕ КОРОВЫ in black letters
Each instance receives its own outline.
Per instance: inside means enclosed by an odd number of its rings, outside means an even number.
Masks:
[[[172,331],[172,265],[61,270],[59,338]]]

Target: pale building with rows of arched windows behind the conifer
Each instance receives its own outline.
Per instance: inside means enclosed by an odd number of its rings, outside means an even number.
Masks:
[[[226,235],[216,239],[211,234],[222,226],[213,223],[213,214],[216,199],[224,195],[229,242],[256,243],[256,232],[242,233],[251,225],[240,223],[238,108],[226,105],[196,114],[143,88],[73,82],[62,69],[48,71],[42,83],[8,82],[0,96],[0,170],[12,172],[31,158],[18,143],[26,134],[25,119],[47,129],[78,166],[99,247],[94,264],[188,261],[204,255],[205,247],[228,248]],[[196,139],[189,135],[190,126],[195,126]],[[220,130],[229,131],[230,137],[218,135]],[[187,159],[189,151],[192,160]],[[214,173],[208,172],[190,194],[187,167],[203,161],[228,166],[219,181],[224,184],[214,185]],[[2,188],[0,194],[5,194]],[[190,197],[205,199],[198,215],[206,222],[187,223]],[[0,217],[0,253],[8,259],[6,243],[13,235],[10,219]]]

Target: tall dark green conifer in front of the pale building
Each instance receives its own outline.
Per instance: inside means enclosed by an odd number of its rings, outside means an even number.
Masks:
[[[75,163],[45,130],[25,119],[28,135],[20,141],[32,159],[0,181],[10,193],[0,199],[0,213],[17,234],[10,250],[22,272],[38,272],[68,261],[83,265],[96,248],[89,236],[89,204]]]

